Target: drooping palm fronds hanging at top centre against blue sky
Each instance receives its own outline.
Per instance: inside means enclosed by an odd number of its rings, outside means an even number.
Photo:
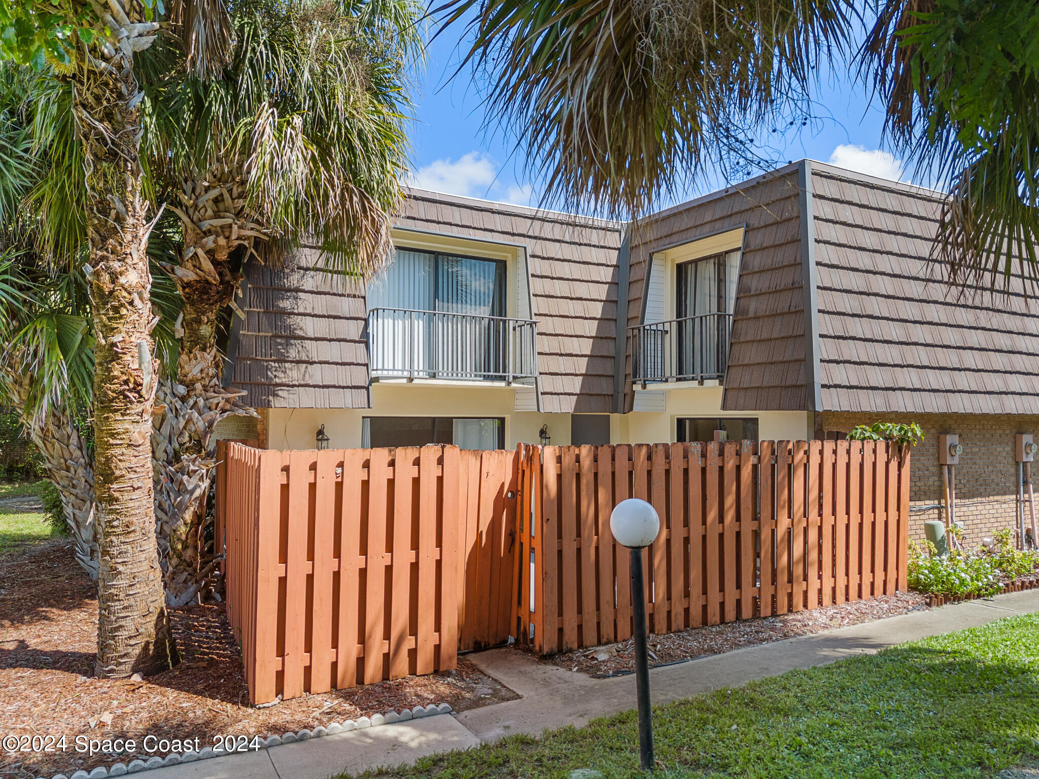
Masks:
[[[764,164],[755,131],[809,114],[816,65],[844,49],[854,11],[848,0],[448,0],[434,12],[472,15],[462,65],[485,74],[488,122],[526,152],[544,199],[637,216],[708,164]]]

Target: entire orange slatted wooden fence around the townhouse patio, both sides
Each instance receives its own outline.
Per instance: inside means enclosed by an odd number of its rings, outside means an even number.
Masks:
[[[628,550],[649,501],[651,633],[904,590],[909,454],[877,441],[217,448],[217,538],[249,697],[455,666],[510,636],[550,653],[632,635]]]

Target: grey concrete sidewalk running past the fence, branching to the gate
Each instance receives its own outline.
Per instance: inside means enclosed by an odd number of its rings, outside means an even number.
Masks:
[[[851,627],[737,649],[649,673],[655,704],[688,698],[722,687],[775,676],[795,668],[822,666],[854,654],[928,636],[992,622],[1014,614],[1039,612],[1039,590],[998,595],[927,612],[903,614]],[[323,779],[346,771],[411,763],[421,757],[469,749],[514,733],[539,734],[545,728],[585,725],[632,708],[635,676],[592,679],[530,656],[495,649],[470,655],[473,663],[522,697],[392,725],[284,744],[247,755],[170,765],[148,779]]]

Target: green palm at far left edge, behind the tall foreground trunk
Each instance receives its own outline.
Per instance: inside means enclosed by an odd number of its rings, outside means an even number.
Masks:
[[[12,291],[0,294],[0,397],[43,454],[76,559],[97,580],[94,459],[82,427],[91,409],[94,334],[71,101],[68,84],[0,62],[7,162],[0,168],[0,278]],[[164,242],[149,243],[153,263],[163,251]],[[179,296],[164,275],[155,281],[151,298],[162,319],[153,334],[166,354]]]

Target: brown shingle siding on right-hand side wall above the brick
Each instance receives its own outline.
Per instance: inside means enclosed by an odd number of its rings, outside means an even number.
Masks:
[[[1039,411],[1039,305],[945,286],[938,197],[812,163],[825,410]]]

